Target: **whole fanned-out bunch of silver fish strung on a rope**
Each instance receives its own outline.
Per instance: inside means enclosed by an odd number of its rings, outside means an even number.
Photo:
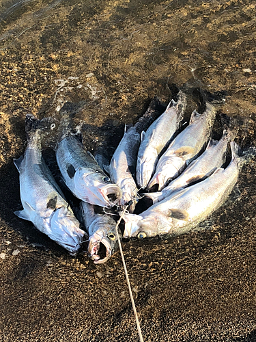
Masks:
[[[206,102],[201,114],[193,111],[182,129],[185,109],[182,92],[160,116],[150,105],[124,133],[109,166],[102,167],[72,133],[64,112],[55,153],[64,183],[81,200],[80,221],[42,158],[42,139],[55,129],[55,122],[27,115],[27,148],[14,159],[23,204],[16,215],[33,222],[72,255],[88,241],[94,263],[104,263],[115,252],[117,234],[120,239],[143,239],[178,235],[197,226],[229,196],[248,153],[238,156],[230,129],[223,130],[221,140],[210,140],[216,116],[213,105]],[[222,168],[229,144],[231,161]],[[150,198],[153,205],[134,214],[141,198]],[[123,234],[116,228],[117,214],[125,222]]]

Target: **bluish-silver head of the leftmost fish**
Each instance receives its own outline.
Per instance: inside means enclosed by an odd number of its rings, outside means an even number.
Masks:
[[[86,235],[72,211],[66,207],[53,211],[48,229],[48,236],[72,255],[78,252],[83,237]]]

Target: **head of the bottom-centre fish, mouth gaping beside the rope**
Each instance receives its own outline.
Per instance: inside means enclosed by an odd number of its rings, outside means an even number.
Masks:
[[[115,224],[104,222],[94,223],[94,233],[89,237],[88,256],[94,260],[94,263],[105,263],[111,255],[115,253],[118,247],[118,237],[122,239],[122,233]]]

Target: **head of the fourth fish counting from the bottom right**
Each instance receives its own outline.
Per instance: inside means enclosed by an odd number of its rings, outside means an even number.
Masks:
[[[147,187],[152,173],[154,172],[157,157],[158,154],[156,153],[156,149],[150,150],[147,155],[143,155],[141,158],[138,157],[136,176],[139,188],[145,189],[145,187]]]

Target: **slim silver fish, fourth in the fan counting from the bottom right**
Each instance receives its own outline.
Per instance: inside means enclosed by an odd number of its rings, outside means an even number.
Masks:
[[[158,155],[179,128],[185,108],[186,98],[180,91],[178,101],[171,100],[165,112],[151,124],[146,132],[141,133],[136,168],[137,183],[141,189],[147,187],[156,168]]]

